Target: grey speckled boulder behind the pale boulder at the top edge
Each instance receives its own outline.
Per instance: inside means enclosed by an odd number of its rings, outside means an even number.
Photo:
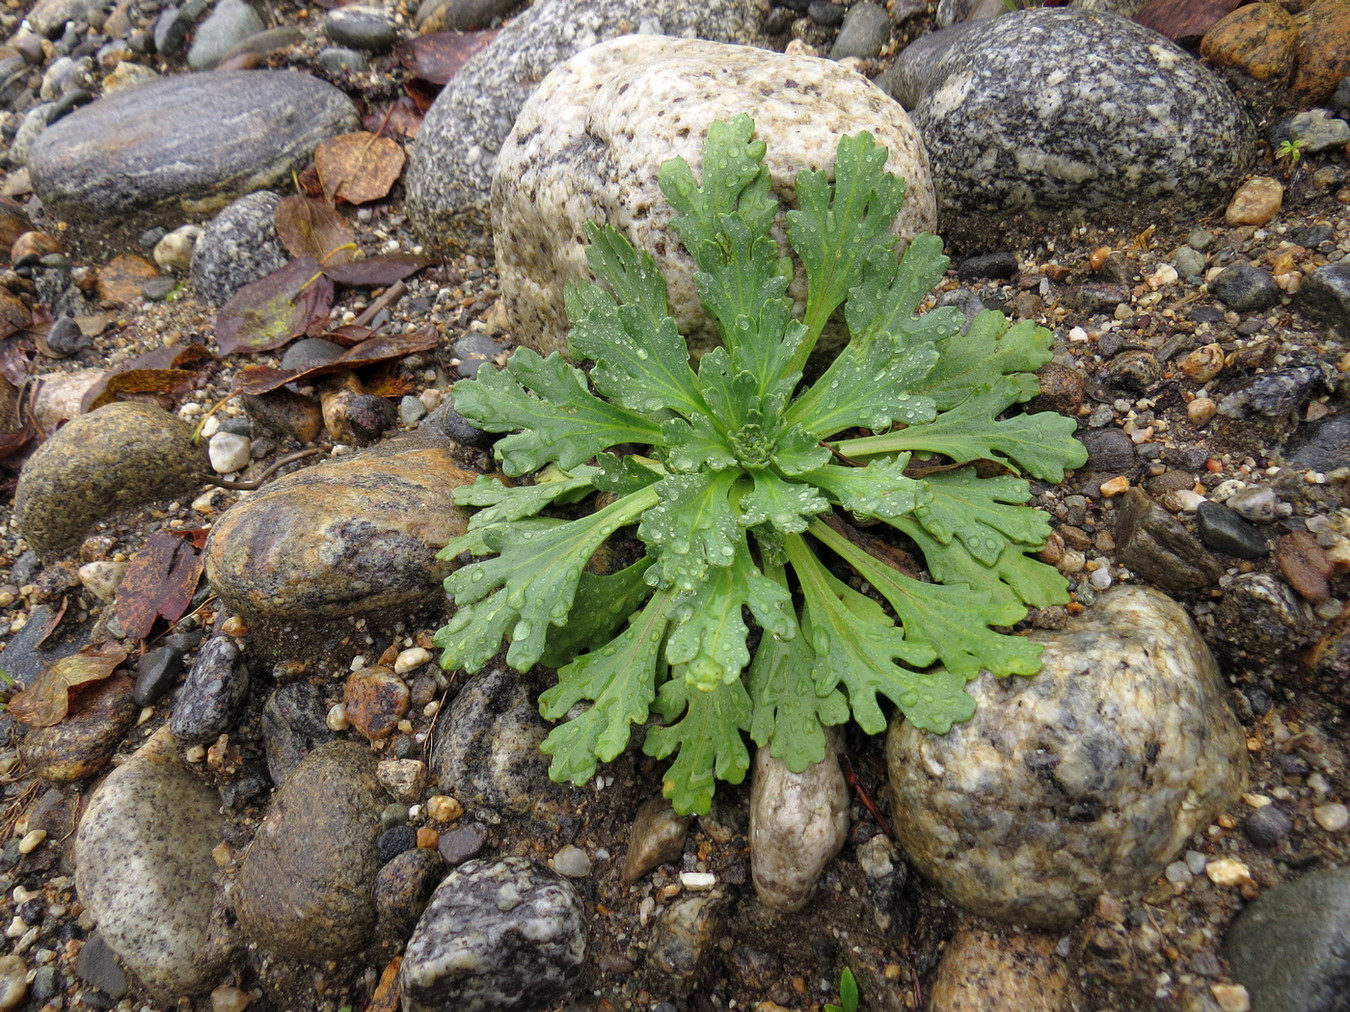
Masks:
[[[408,220],[444,252],[490,252],[497,152],[539,82],[564,59],[633,31],[761,42],[761,0],[540,0],[455,74],[427,113],[405,182]],[[778,82],[782,85],[782,81]]]

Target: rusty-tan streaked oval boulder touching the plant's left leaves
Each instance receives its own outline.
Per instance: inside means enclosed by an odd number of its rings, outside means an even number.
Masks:
[[[207,541],[207,579],[246,617],[369,614],[424,602],[464,532],[451,498],[475,475],[450,451],[409,449],[316,464],[232,506]]]

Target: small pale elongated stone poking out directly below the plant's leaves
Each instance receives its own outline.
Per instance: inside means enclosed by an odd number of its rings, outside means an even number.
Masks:
[[[755,893],[770,909],[801,909],[815,891],[821,872],[848,837],[848,784],[836,757],[838,727],[826,733],[825,758],[801,773],[755,753],[751,785],[751,873]]]

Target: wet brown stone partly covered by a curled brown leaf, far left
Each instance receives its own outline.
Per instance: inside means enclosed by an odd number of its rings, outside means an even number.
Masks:
[[[131,679],[113,675],[84,688],[66,718],[53,727],[34,727],[19,743],[19,757],[42,780],[84,780],[108,765],[122,737],[136,719]]]

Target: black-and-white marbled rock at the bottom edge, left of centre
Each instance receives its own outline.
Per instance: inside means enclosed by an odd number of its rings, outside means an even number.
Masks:
[[[544,1008],[580,972],[583,913],[571,882],[526,858],[460,865],[408,940],[404,1012]]]

